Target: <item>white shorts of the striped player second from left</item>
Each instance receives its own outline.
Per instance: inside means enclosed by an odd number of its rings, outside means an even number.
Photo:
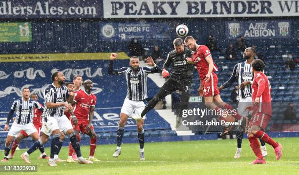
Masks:
[[[73,126],[65,115],[63,115],[62,117],[48,116],[47,121],[44,121],[43,117],[43,126],[41,132],[43,132],[47,136],[50,136],[56,129],[59,129],[60,132],[64,132],[65,134],[67,130],[73,129]]]

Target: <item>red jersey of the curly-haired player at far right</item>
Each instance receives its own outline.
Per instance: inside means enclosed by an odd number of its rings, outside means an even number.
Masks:
[[[258,72],[254,76],[252,88],[252,101],[254,102],[256,97],[259,97],[259,104],[253,105],[253,114],[265,113],[272,116],[271,105],[271,85],[265,74]]]

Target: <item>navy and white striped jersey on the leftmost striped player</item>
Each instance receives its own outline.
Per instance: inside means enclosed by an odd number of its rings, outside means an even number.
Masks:
[[[15,122],[17,124],[25,125],[32,123],[34,107],[43,112],[43,107],[40,103],[30,98],[27,101],[24,101],[23,98],[15,100],[11,106],[11,111],[8,114],[6,124],[9,123],[14,112],[16,113]]]

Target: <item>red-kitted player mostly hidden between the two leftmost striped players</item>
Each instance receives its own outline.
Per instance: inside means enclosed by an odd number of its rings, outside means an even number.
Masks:
[[[38,95],[37,94],[30,94],[30,98],[32,100],[38,102]],[[43,107],[43,105],[41,103],[39,103],[39,104],[40,104],[40,106]],[[33,123],[34,127],[37,129],[39,134],[40,134],[40,130],[42,128],[42,119],[43,119],[42,115],[43,115],[43,112],[40,111],[38,108],[34,107],[32,123]],[[8,158],[13,158],[14,157],[16,148],[19,146],[20,141],[23,138],[27,138],[28,136],[29,135],[26,132],[21,131],[19,136],[16,137],[15,141],[11,145],[11,154],[8,156]],[[42,152],[42,151],[44,151],[43,147],[40,148],[40,151],[41,151],[42,154],[39,158],[44,158],[44,159],[49,159],[50,158],[49,156],[47,156],[45,154],[45,152]]]

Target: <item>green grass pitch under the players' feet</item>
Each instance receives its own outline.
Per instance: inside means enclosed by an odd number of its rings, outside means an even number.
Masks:
[[[116,145],[98,145],[95,157],[101,162],[90,165],[58,163],[49,167],[47,160],[36,159],[36,151],[30,155],[32,164],[38,165],[39,175],[298,175],[299,137],[275,138],[282,144],[282,159],[275,160],[273,148],[267,145],[266,165],[249,165],[255,159],[247,139],[243,140],[241,158],[235,159],[236,140],[208,140],[146,143],[145,161],[138,159],[138,144],[123,144],[122,154],[113,158]],[[25,150],[16,151],[15,158],[4,164],[25,164],[20,157]],[[50,150],[46,149],[49,155]],[[89,146],[82,147],[84,157],[89,155]],[[3,151],[0,152],[3,155]],[[66,159],[68,148],[63,147],[60,155]],[[5,174],[5,173],[4,173]],[[13,175],[14,173],[9,173]],[[21,173],[15,173],[21,174]],[[2,173],[1,173],[2,175]]]

